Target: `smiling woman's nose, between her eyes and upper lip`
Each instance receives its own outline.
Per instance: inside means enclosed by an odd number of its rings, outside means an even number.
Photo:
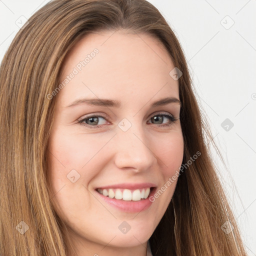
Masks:
[[[146,171],[157,161],[153,145],[139,125],[132,125],[127,131],[117,129],[114,147],[114,162],[120,169]]]

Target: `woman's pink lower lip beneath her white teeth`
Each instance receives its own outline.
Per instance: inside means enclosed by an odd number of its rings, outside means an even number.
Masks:
[[[150,207],[152,202],[149,200],[150,196],[154,193],[155,187],[150,191],[148,197],[146,199],[142,199],[139,201],[125,201],[122,199],[115,199],[115,198],[110,198],[108,196],[105,196],[103,194],[100,194],[99,192],[96,191],[98,196],[104,200],[105,202],[109,203],[111,206],[122,210],[124,212],[140,212],[143,210],[146,210]]]

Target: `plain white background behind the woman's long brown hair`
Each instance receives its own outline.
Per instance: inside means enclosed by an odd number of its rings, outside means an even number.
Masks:
[[[0,60],[19,30],[16,20],[47,2],[0,0]],[[256,0],[149,2],[184,50],[196,97],[226,164],[215,157],[221,181],[248,255],[256,256]],[[228,130],[221,126],[226,118],[234,124]]]

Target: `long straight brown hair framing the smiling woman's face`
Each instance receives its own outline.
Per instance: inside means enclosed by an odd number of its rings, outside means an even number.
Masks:
[[[45,155],[56,97],[49,100],[47,95],[59,84],[65,55],[82,36],[117,29],[155,36],[182,71],[182,163],[200,152],[180,173],[150,237],[153,255],[246,255],[209,152],[207,144],[214,141],[181,46],[146,0],[52,0],[28,19],[10,44],[0,66],[0,255],[64,256],[71,251],[66,227],[50,203]],[[221,228],[225,223],[231,223],[230,232]]]

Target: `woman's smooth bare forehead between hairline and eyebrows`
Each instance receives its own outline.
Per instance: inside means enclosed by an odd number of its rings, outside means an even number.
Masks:
[[[124,101],[126,96],[135,101],[139,97],[148,101],[157,94],[178,97],[178,81],[169,75],[173,68],[167,50],[152,35],[93,32],[66,55],[59,81],[66,85],[57,94],[58,102],[63,106],[81,96],[121,97]],[[75,74],[67,81],[71,73]]]

